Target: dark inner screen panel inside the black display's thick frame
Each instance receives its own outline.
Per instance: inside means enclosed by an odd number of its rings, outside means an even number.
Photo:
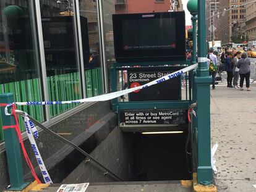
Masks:
[[[173,18],[124,20],[122,31],[124,50],[176,48],[175,19]]]

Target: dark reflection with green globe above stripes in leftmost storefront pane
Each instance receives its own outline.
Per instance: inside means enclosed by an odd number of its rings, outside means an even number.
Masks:
[[[9,3],[7,3],[9,2]],[[28,1],[22,6],[1,1],[0,83],[39,77],[35,37]]]

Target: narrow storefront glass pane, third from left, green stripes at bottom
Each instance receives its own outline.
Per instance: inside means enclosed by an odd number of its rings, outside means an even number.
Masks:
[[[103,93],[96,1],[80,0],[80,23],[87,98]]]

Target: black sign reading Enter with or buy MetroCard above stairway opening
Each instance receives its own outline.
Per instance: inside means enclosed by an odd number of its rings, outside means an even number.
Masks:
[[[122,111],[120,123],[122,126],[184,124],[187,123],[187,111],[185,109]]]

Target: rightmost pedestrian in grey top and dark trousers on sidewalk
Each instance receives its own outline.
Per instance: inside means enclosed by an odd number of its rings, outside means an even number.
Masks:
[[[237,68],[240,75],[240,90],[244,90],[242,86],[245,78],[247,91],[250,91],[250,59],[247,58],[246,52],[242,53],[241,59],[237,62]]]

